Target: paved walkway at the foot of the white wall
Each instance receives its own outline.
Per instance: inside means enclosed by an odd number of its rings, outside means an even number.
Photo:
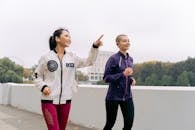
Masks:
[[[0,130],[47,130],[41,115],[0,105]],[[66,130],[97,130],[69,123]]]

